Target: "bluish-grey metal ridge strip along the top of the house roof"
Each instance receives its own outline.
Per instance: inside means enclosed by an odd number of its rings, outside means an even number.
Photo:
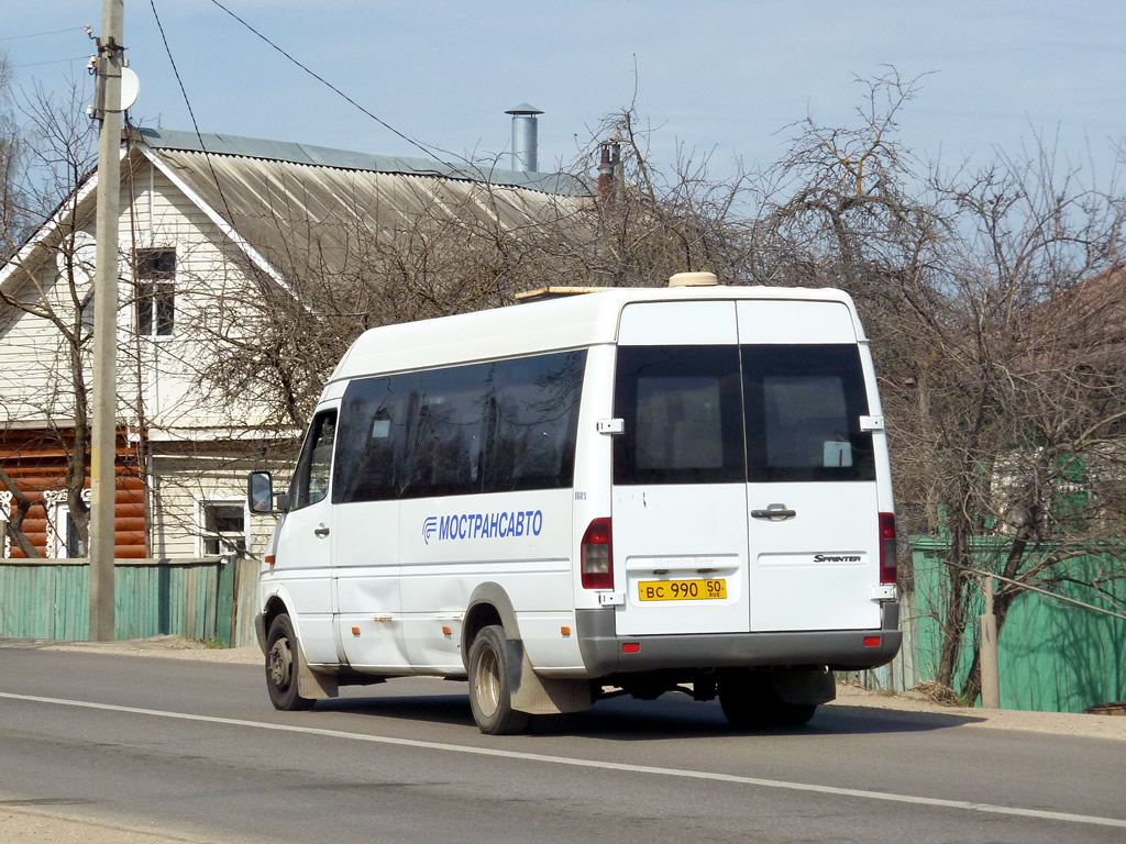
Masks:
[[[349,150],[298,144],[286,141],[267,141],[216,133],[178,132],[164,128],[141,128],[140,138],[154,150],[208,152],[216,155],[240,155],[266,161],[286,161],[341,170],[365,170],[375,173],[434,176],[466,181],[485,181],[560,196],[591,196],[591,186],[568,173],[528,173],[501,168],[483,168],[472,163],[448,163],[434,159],[412,159],[393,155],[370,155]],[[200,138],[203,143],[200,144]]]

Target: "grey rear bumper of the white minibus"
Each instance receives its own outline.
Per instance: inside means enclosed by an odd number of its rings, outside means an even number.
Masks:
[[[828,665],[833,671],[860,671],[890,663],[899,653],[900,607],[882,604],[878,630],[810,630],[797,632],[618,636],[614,609],[578,610],[579,647],[590,676],[676,668],[735,668]],[[878,645],[865,638],[879,637]],[[636,643],[635,654],[622,653]]]

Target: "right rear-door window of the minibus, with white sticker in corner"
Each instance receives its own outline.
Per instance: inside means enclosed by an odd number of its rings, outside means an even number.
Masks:
[[[872,481],[872,433],[856,345],[745,345],[748,477]]]

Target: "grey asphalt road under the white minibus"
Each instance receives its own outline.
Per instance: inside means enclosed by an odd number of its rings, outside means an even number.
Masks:
[[[1120,742],[822,709],[733,733],[618,699],[534,735],[400,680],[276,712],[261,668],[0,647],[0,807],[216,842],[1120,842]]]

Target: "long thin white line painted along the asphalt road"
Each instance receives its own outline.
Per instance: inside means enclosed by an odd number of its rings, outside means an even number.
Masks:
[[[945,809],[963,811],[983,811],[991,815],[1013,815],[1042,820],[1058,820],[1066,824],[1093,824],[1126,828],[1126,819],[1103,818],[1096,815],[1073,815],[1066,811],[1045,811],[1043,809],[1026,809],[1018,806],[995,806],[993,803],[976,803],[967,800],[944,800],[936,797],[917,797],[914,794],[896,794],[885,791],[865,791],[864,789],[844,789],[835,785],[815,785],[806,782],[787,782],[785,780],[765,780],[758,776],[740,776],[738,774],[713,773],[709,771],[689,771],[677,767],[656,767],[653,765],[631,765],[623,762],[599,762],[597,760],[571,758],[568,756],[549,756],[542,753],[524,753],[520,751],[499,751],[490,747],[468,747],[465,745],[446,744],[444,742],[422,742],[413,738],[392,738],[390,736],[369,736],[363,733],[346,733],[338,729],[320,727],[297,727],[289,724],[266,724],[248,721],[241,718],[217,718],[208,715],[190,715],[188,712],[166,712],[159,709],[141,709],[137,707],[120,707],[110,703],[93,703],[83,700],[65,700],[61,698],[41,698],[34,694],[11,694],[0,692],[0,698],[23,700],[33,703],[52,703],[61,707],[78,707],[80,709],[100,709],[108,712],[127,712],[128,715],[146,715],[153,718],[173,718],[184,721],[203,721],[205,724],[222,724],[231,727],[250,727],[252,729],[269,729],[280,733],[302,733],[310,736],[343,738],[352,742],[372,742],[374,744],[396,745],[400,747],[418,747],[429,751],[448,753],[467,753],[476,756],[495,756],[499,758],[520,760],[522,762],[543,762],[551,765],[571,765],[572,767],[591,767],[605,771],[622,771],[656,776],[677,776],[686,780],[706,780],[712,782],[731,782],[740,785],[758,785],[760,788],[784,789],[787,791],[810,791],[817,794],[834,794],[837,797],[856,797],[864,800],[884,800],[887,802],[912,803],[915,806],[935,806]]]

